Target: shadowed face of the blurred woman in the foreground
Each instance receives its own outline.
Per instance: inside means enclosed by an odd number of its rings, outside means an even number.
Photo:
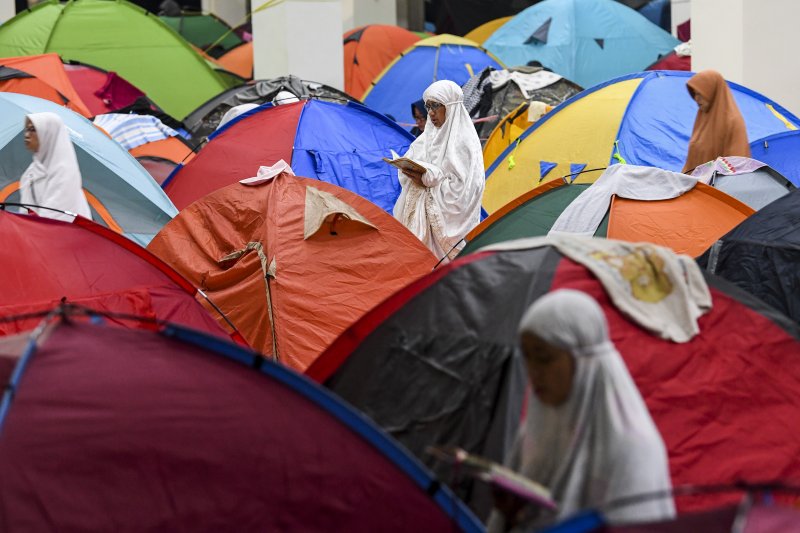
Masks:
[[[536,397],[551,407],[562,405],[572,391],[575,359],[531,333],[522,334],[521,344]]]

